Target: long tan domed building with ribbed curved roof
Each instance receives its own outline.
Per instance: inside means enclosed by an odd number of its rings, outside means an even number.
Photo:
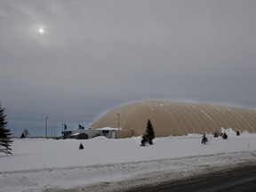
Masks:
[[[114,108],[96,120],[91,130],[118,129],[119,138],[140,136],[148,119],[156,137],[214,133],[221,128],[256,132],[256,110],[203,103],[150,100]]]

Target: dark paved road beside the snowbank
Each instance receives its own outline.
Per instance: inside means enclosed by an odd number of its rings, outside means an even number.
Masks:
[[[193,180],[133,190],[133,192],[255,192],[256,166],[247,166],[227,172],[218,172]]]

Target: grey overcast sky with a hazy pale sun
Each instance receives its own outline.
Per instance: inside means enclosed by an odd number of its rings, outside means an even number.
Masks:
[[[256,108],[255,10],[255,0],[0,0],[9,123],[91,124],[139,100]]]

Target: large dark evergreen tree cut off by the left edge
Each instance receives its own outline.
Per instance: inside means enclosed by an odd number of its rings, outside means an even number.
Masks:
[[[5,120],[4,115],[4,108],[2,108],[0,103],[0,152],[3,152],[5,154],[12,154],[11,153],[11,130],[6,128],[7,121]]]

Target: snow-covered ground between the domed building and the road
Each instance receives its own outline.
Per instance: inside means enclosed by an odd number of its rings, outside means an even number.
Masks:
[[[201,139],[157,138],[145,148],[140,137],[14,140],[13,155],[0,154],[0,191],[124,191],[256,164],[256,134],[229,131],[228,140],[212,137],[209,145]]]

